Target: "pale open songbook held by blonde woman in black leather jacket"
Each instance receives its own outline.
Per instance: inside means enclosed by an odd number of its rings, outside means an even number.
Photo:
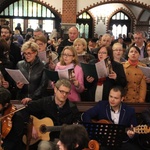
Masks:
[[[19,69],[14,70],[5,68],[5,70],[8,72],[8,74],[12,77],[12,79],[15,82],[22,82],[24,84],[29,84],[29,81],[25,78],[25,76]]]

